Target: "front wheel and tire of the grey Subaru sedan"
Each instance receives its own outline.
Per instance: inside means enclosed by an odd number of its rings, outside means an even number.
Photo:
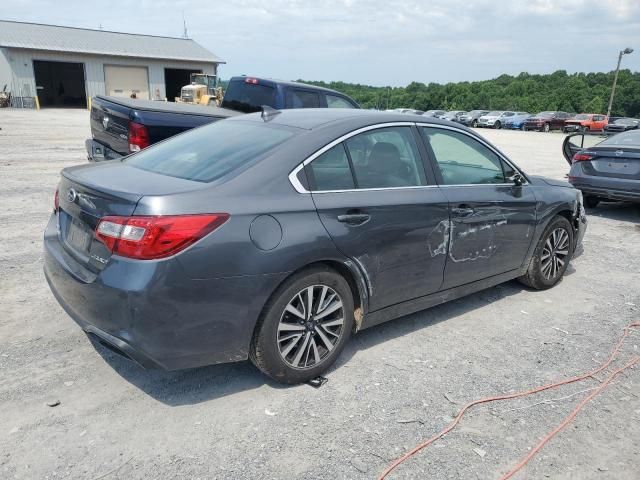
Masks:
[[[558,215],[545,228],[527,271],[518,280],[536,290],[551,288],[562,280],[572,256],[573,228]]]

